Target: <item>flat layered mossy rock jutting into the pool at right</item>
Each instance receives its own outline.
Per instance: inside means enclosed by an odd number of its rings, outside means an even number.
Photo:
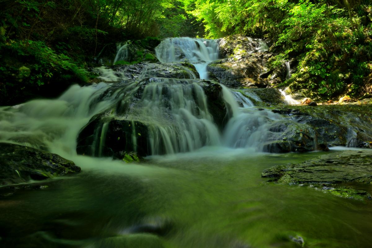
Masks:
[[[283,184],[315,186],[344,198],[371,199],[372,151],[347,150],[321,155],[301,164],[277,165],[264,170],[262,177],[273,177],[272,181]],[[360,189],[361,185],[365,186],[364,190]]]

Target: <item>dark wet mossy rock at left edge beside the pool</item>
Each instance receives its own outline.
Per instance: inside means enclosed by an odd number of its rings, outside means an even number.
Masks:
[[[39,149],[0,143],[0,185],[44,180],[80,171],[74,162]]]

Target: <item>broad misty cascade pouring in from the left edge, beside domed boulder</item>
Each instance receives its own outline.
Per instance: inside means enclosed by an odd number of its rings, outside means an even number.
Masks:
[[[32,100],[0,108],[0,141],[48,149],[70,157],[76,137],[89,119],[107,109],[115,96],[101,98],[109,84],[71,86],[55,100]]]

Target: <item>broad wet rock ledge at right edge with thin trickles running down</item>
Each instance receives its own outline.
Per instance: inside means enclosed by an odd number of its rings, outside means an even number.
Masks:
[[[318,146],[372,146],[371,106],[280,106],[272,111],[314,129]]]

